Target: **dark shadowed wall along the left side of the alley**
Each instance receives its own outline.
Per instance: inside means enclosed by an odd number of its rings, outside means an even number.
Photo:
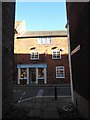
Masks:
[[[15,3],[2,2],[2,114],[12,104]]]

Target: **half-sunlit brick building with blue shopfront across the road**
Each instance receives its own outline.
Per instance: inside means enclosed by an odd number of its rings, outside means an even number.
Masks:
[[[14,84],[69,84],[67,31],[25,31],[16,21]]]

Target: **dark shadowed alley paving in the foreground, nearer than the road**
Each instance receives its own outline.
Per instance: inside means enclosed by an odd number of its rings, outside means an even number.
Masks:
[[[52,100],[52,101],[51,101]],[[72,102],[65,99],[37,99],[16,103],[2,120],[83,119]]]

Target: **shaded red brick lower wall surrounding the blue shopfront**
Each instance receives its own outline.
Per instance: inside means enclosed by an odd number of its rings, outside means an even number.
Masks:
[[[14,73],[15,80],[18,78],[17,64],[47,64],[47,83],[69,83],[69,66],[68,55],[61,55],[61,59],[53,60],[52,55],[40,55],[39,60],[30,60],[30,54],[15,54],[14,55]],[[64,66],[65,78],[56,78],[56,66]]]

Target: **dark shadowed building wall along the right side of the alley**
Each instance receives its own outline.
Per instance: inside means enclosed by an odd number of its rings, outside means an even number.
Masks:
[[[67,2],[73,99],[84,118],[89,118],[88,2]]]

